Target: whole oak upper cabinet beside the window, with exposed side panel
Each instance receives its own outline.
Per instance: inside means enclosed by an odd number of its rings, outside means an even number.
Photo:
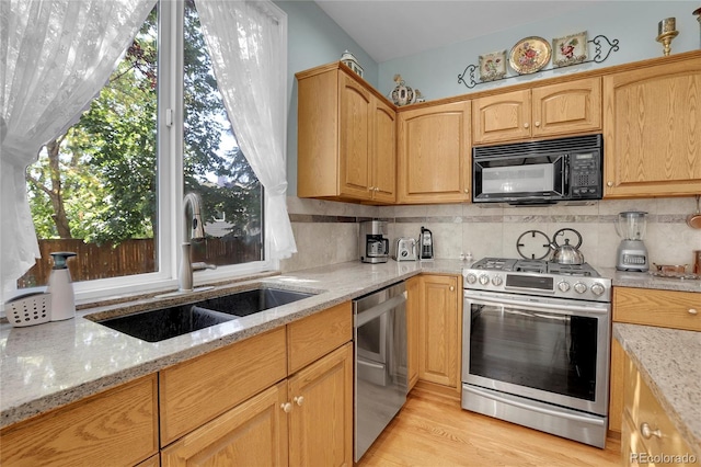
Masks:
[[[397,114],[344,65],[296,75],[297,195],[372,204],[397,200]]]

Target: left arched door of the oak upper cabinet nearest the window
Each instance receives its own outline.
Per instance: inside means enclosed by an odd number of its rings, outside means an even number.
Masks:
[[[338,73],[341,89],[341,155],[338,192],[342,196],[369,200],[371,95],[357,81]]]

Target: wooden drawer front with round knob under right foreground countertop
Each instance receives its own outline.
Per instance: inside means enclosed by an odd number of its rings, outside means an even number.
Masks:
[[[632,437],[644,445],[651,455],[691,453],[630,358],[627,366],[624,419],[630,419],[628,422],[633,431]],[[645,425],[650,433],[645,432]]]

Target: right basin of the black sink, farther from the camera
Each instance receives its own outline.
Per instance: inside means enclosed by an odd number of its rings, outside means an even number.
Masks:
[[[197,306],[242,317],[291,304],[313,295],[304,292],[281,291],[279,288],[255,288],[199,301]]]

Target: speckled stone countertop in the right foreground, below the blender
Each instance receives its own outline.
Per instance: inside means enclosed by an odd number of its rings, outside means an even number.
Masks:
[[[613,337],[701,458],[701,332],[614,322]]]

